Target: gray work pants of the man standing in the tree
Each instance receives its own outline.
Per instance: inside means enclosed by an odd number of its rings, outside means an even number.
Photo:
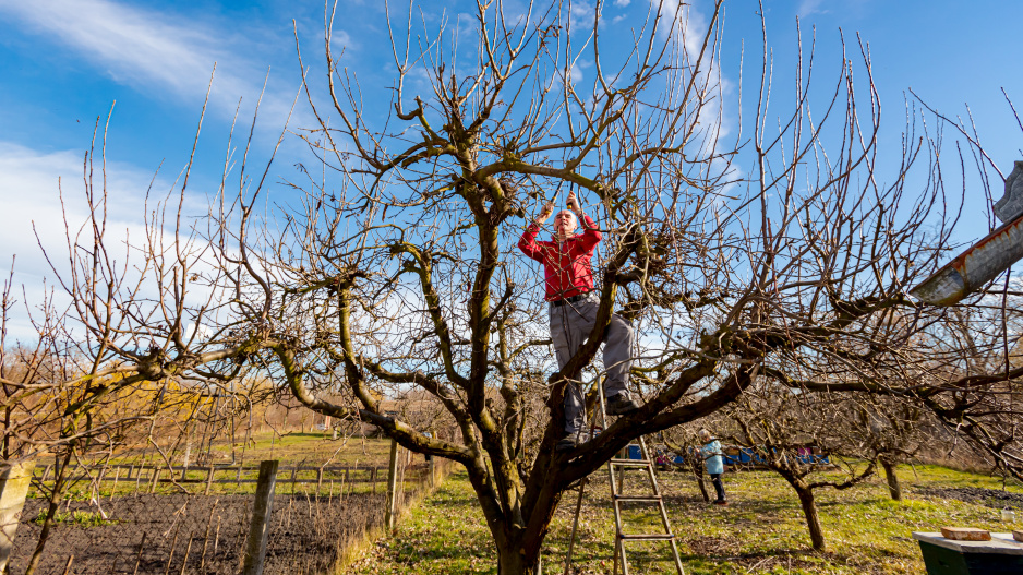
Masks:
[[[578,301],[563,306],[550,304],[551,339],[557,355],[558,369],[571,359],[597,323],[597,309],[600,307],[597,294],[591,291]],[[619,315],[611,316],[611,325],[604,337],[604,396],[628,394],[628,369],[633,363],[633,340],[635,332],[629,322]],[[565,432],[575,433],[586,426],[586,408],[578,382],[568,384],[565,391]]]

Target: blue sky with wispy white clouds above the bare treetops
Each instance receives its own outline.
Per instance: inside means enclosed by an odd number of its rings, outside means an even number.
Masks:
[[[640,22],[657,0],[610,0],[603,9],[603,45],[628,41],[628,26]],[[508,3],[522,3],[521,0]],[[398,0],[392,10],[402,12]],[[593,2],[575,2],[586,13]],[[697,14],[708,0],[694,0]],[[830,81],[841,62],[839,34],[850,49],[856,34],[869,45],[875,81],[884,106],[886,137],[904,125],[906,89],[928,105],[974,120],[992,159],[1008,173],[1021,159],[1021,129],[1001,89],[1023,106],[1019,57],[1023,37],[1023,2],[978,0],[793,0],[765,1],[768,43],[779,86],[791,79],[795,63],[795,21],[805,44],[816,28],[819,80]],[[449,17],[473,10],[474,0],[417,3],[435,22],[441,10]],[[745,46],[747,74],[760,43],[757,3],[726,2],[722,73],[738,81],[738,55]],[[236,109],[248,132],[254,105],[263,94],[256,136],[256,159],[276,142],[299,89],[293,26],[305,62],[322,74],[323,14],[320,0],[289,2],[169,0],[0,0],[0,271],[7,276],[17,255],[15,281],[24,283],[29,300],[40,295],[49,276],[33,237],[35,229],[49,247],[63,233],[58,179],[72,200],[81,193],[82,158],[97,117],[106,118],[116,100],[107,142],[109,192],[113,219],[127,229],[140,224],[142,199],[154,173],[154,192],[166,194],[184,167],[195,127],[216,63],[216,76],[197,147],[188,209],[201,214],[219,182],[227,139]],[[387,101],[394,69],[384,3],[340,0],[335,45],[345,48],[342,64],[360,77],[368,100]],[[585,73],[585,71],[583,71]],[[781,91],[780,91],[781,92]],[[748,96],[747,96],[748,97]],[[240,104],[239,104],[240,103]],[[292,128],[311,125],[300,106]],[[240,108],[239,108],[240,106]],[[725,108],[735,119],[736,109]],[[290,178],[296,161],[308,160],[304,146],[286,137],[270,176]],[[898,148],[891,148],[896,151]],[[284,187],[272,199],[287,201]],[[987,231],[983,197],[968,202],[963,241]],[[71,208],[76,225],[83,213]]]

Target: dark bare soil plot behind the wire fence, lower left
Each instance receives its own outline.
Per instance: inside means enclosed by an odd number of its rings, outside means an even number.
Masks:
[[[383,523],[384,494],[274,496],[273,527],[264,573],[322,573],[338,550],[368,528]],[[14,542],[12,573],[23,573],[41,526],[35,518],[45,501],[29,500]],[[134,573],[232,574],[241,571],[249,532],[251,495],[140,494],[101,501],[108,525],[56,526],[37,573],[60,574],[71,555],[79,575]],[[61,505],[61,512],[64,506]],[[96,506],[71,502],[69,512],[95,513]],[[191,542],[191,546],[190,546]]]

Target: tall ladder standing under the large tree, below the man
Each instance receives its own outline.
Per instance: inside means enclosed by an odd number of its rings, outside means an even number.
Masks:
[[[604,400],[604,391],[602,388],[600,380],[598,380],[598,395],[600,398],[600,423],[601,429],[607,429],[607,405]],[[593,436],[595,431],[595,417],[593,418],[593,424],[590,428],[590,436]],[[654,471],[653,465],[654,462],[650,457],[650,450],[647,446],[646,440],[639,438],[637,443],[630,444],[637,445],[639,447],[640,458],[639,459],[629,459],[627,457],[612,457],[607,460],[607,476],[611,480],[611,502],[614,506],[614,527],[615,527],[615,537],[614,537],[614,573],[617,575],[618,565],[622,565],[622,574],[628,575],[628,559],[625,554],[625,543],[629,541],[667,541],[672,552],[672,560],[675,562],[675,568],[678,570],[678,575],[685,575],[685,571],[682,568],[682,560],[678,558],[678,544],[675,541],[675,534],[672,532],[671,523],[667,519],[667,511],[664,508],[664,499],[661,495],[661,488],[658,484],[657,472]],[[625,450],[626,456],[628,454],[628,447]],[[625,495],[622,491],[624,487],[624,477],[626,469],[643,469],[647,471],[647,479],[649,481],[650,493],[649,495]],[[615,477],[615,471],[617,470],[618,477]],[[576,542],[576,531],[579,525],[579,515],[582,510],[582,493],[586,490],[587,480],[583,478],[578,483],[579,489],[579,500],[576,503],[576,515],[571,523],[571,539],[568,541],[568,556],[565,560],[565,575],[568,575],[571,570],[571,552]],[[661,526],[663,532],[657,534],[626,534],[622,526],[622,504],[623,503],[641,503],[641,504],[654,504],[658,506],[658,512],[661,515]]]

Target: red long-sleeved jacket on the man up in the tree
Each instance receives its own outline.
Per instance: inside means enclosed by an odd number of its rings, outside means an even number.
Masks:
[[[543,264],[543,279],[547,301],[586,294],[593,289],[593,268],[590,260],[600,242],[600,231],[590,216],[582,216],[583,232],[563,242],[537,241],[540,225],[533,223],[519,239],[522,253]]]

